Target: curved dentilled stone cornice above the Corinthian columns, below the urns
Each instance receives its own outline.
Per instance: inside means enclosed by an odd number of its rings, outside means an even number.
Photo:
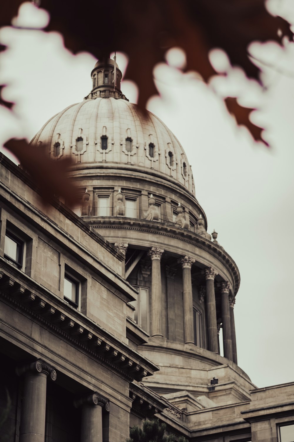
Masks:
[[[87,222],[94,229],[123,229],[134,230],[146,233],[156,233],[157,235],[177,238],[178,240],[192,244],[209,255],[216,258],[226,267],[234,280],[234,295],[237,294],[240,286],[240,274],[238,267],[231,256],[220,246],[212,241],[206,240],[197,233],[186,229],[179,229],[173,225],[167,225],[157,221],[146,221],[144,219],[133,219],[126,217],[87,217]],[[150,247],[152,244],[150,244]]]

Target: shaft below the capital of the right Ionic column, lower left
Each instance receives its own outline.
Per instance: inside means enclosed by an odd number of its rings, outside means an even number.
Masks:
[[[83,405],[81,442],[102,442],[102,405]]]

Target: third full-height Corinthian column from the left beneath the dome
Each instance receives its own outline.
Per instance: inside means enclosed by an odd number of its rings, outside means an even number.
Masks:
[[[217,272],[212,267],[205,269],[208,350],[218,353],[217,325],[216,325],[216,296],[214,293],[214,278],[216,277],[216,275]]]

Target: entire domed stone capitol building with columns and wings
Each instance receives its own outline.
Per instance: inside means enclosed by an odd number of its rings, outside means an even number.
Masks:
[[[0,432],[123,442],[157,416],[191,442],[293,441],[294,384],[257,389],[238,366],[238,267],[182,146],[128,102],[111,59],[92,79],[32,140],[71,157],[77,206],[42,206],[1,157]]]

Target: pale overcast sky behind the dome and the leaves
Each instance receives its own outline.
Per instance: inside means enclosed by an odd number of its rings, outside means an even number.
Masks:
[[[293,0],[270,3],[294,24]],[[36,18],[31,9],[27,13],[18,25],[27,25],[27,17],[32,24],[46,22],[45,13],[37,11]],[[16,103],[14,114],[0,108],[2,145],[15,136],[30,140],[52,115],[82,101],[91,90],[95,59],[87,53],[73,56],[57,33],[4,28],[0,41],[9,46],[0,55],[0,84],[7,84],[3,98]],[[284,51],[273,43],[256,43],[253,50],[273,65],[264,74],[268,88],[263,93],[239,69],[208,88],[193,75],[160,65],[154,74],[161,98],[150,100],[149,110],[179,138],[208,232],[216,229],[220,244],[238,265],[238,365],[263,387],[294,381],[294,43]],[[220,54],[215,60],[226,64]],[[123,71],[126,59],[118,57],[118,64]],[[122,90],[130,101],[136,99],[131,84],[123,82]],[[235,126],[219,98],[224,91],[238,91],[240,103],[260,109],[252,120],[266,127],[271,149]]]

